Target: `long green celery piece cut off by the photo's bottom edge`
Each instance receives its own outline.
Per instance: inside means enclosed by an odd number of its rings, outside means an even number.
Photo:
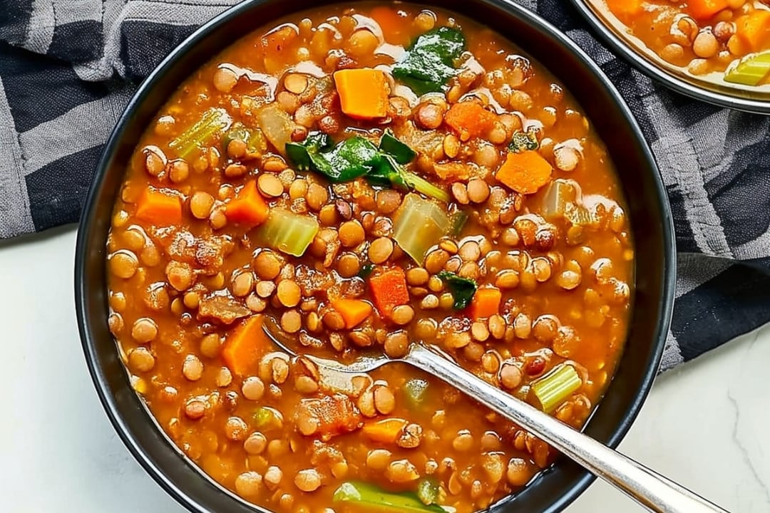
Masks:
[[[412,493],[390,493],[373,485],[348,481],[334,491],[337,511],[358,513],[446,513],[439,505],[425,505]]]

